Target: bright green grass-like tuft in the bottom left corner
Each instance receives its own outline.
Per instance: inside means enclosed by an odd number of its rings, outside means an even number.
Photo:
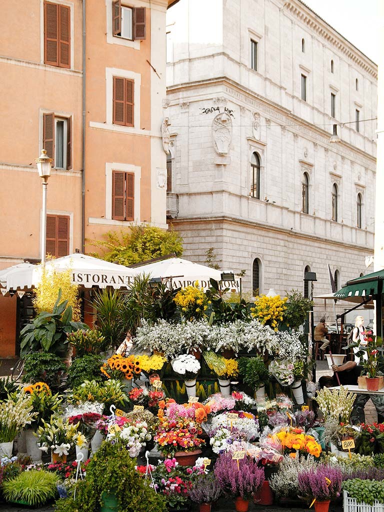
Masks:
[[[3,495],[11,503],[31,507],[42,506],[55,498],[57,480],[57,475],[48,471],[24,471],[15,478],[3,482]]]

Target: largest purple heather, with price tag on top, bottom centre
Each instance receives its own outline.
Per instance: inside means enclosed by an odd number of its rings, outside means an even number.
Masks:
[[[226,496],[248,500],[264,483],[264,468],[258,467],[251,457],[232,460],[232,454],[222,454],[216,461],[215,477]]]

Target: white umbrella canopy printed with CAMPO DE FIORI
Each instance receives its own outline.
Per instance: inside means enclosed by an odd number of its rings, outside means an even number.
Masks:
[[[221,281],[221,270],[210,268],[199,263],[193,263],[182,258],[168,258],[154,263],[148,263],[135,267],[138,273],[150,274],[151,278],[172,278],[172,286],[175,288],[185,288],[199,281],[203,289],[210,287],[209,279]],[[223,285],[228,288],[238,287],[237,281],[223,281]]]

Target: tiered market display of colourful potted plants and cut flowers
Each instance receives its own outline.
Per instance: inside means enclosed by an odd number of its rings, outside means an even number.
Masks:
[[[311,382],[309,301],[146,285],[124,297],[140,317],[124,350],[100,354],[104,324],[71,329],[69,368],[0,383],[1,499],[59,512],[384,506],[384,423],[353,424],[356,395]],[[367,350],[380,375],[380,340]]]

